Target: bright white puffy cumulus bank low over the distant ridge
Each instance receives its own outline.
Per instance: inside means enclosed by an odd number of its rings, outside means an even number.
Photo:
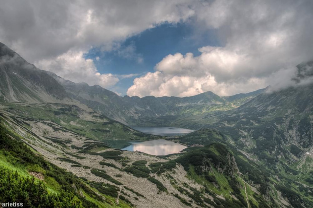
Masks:
[[[190,53],[165,57],[155,66],[156,72],[136,78],[127,94],[183,97],[213,91],[228,96],[269,85],[283,88],[294,83],[291,79],[296,75],[296,67],[274,68],[265,73],[266,63],[253,66],[255,60],[247,55],[222,47],[199,50],[202,54],[198,57]]]

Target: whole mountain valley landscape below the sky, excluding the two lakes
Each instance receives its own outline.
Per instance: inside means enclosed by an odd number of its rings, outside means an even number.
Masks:
[[[313,64],[297,67],[301,74]],[[166,137],[132,126],[195,131]],[[0,131],[1,202],[313,207],[312,84],[227,97],[122,97],[37,69],[0,43]],[[120,150],[154,139],[187,148],[165,156]]]

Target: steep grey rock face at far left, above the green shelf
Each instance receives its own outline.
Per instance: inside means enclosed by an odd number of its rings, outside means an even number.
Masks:
[[[66,91],[45,71],[0,43],[0,95],[13,102],[53,102],[64,99]]]

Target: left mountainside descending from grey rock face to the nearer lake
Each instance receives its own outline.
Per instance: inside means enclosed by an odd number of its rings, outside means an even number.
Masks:
[[[0,43],[1,112],[16,122],[26,121],[28,126],[31,124],[27,122],[45,122],[52,128],[71,130],[96,140],[156,138],[96,113],[79,100],[72,99],[51,74],[37,69]]]

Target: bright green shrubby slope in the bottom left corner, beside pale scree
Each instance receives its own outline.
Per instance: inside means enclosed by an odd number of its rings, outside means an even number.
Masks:
[[[25,145],[0,122],[0,201],[15,201],[27,207],[131,207],[120,200],[120,206],[108,194],[95,192],[86,182],[47,162]],[[34,178],[31,175],[35,175]],[[102,190],[108,185],[100,184]],[[102,197],[103,196],[103,197]]]

